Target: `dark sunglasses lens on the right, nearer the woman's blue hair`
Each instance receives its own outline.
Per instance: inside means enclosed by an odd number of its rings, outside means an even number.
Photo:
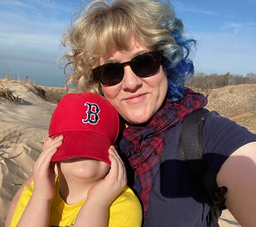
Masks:
[[[130,65],[136,75],[147,77],[157,73],[161,59],[161,52],[150,52],[134,58]]]

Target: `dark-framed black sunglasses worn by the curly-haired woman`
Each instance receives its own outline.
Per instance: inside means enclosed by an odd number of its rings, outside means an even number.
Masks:
[[[130,65],[140,77],[155,75],[162,61],[162,51],[147,52],[123,63],[110,62],[93,69],[94,79],[106,86],[118,85],[123,80],[124,66]]]

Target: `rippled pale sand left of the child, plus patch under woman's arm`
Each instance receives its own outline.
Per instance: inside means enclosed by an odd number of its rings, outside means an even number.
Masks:
[[[0,98],[0,227],[4,226],[12,196],[31,175],[47,137],[51,113],[56,108],[26,87],[5,83],[18,96],[17,103]],[[239,226],[225,210],[220,226]]]

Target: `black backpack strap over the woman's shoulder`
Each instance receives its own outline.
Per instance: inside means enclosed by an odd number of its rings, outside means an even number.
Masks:
[[[181,157],[186,162],[196,183],[206,191],[210,199],[210,213],[207,216],[208,226],[219,226],[219,208],[225,206],[227,188],[218,188],[210,167],[203,158],[202,128],[208,109],[197,109],[190,113],[182,122],[180,148]]]

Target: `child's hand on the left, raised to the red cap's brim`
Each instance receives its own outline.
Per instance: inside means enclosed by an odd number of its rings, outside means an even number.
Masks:
[[[56,194],[55,162],[51,162],[51,158],[62,144],[62,139],[63,136],[54,139],[46,138],[44,149],[35,162],[33,170],[34,191],[32,196],[36,196],[37,199],[52,200]]]

